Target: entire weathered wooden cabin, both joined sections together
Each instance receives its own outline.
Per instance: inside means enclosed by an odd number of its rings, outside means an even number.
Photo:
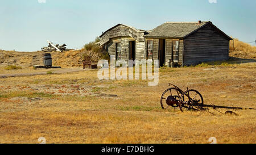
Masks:
[[[152,31],[118,24],[100,36],[100,45],[121,60],[168,60],[177,66],[227,60],[229,40],[212,22],[166,22]]]

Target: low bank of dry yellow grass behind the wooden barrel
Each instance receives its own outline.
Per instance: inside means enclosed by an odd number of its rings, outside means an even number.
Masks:
[[[43,53],[37,52],[14,52],[0,50],[0,65],[18,65],[25,68],[32,68],[32,65],[43,65]],[[61,68],[81,68],[83,55],[92,57],[93,62],[100,60],[100,53],[86,51],[81,49],[78,51],[50,52],[53,66],[61,66]]]

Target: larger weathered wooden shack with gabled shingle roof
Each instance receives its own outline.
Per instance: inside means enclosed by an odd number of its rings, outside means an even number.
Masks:
[[[212,22],[166,22],[144,35],[145,57],[179,65],[226,60],[232,38]],[[152,48],[151,48],[152,47]]]

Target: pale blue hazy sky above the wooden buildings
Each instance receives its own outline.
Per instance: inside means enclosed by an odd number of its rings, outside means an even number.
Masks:
[[[118,23],[152,30],[164,22],[210,20],[227,35],[256,40],[255,0],[0,0],[0,49],[82,48]]]

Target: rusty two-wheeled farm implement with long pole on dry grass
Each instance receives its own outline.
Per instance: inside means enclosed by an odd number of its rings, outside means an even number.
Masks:
[[[217,110],[217,108],[225,108],[225,109],[232,109],[232,110],[246,110],[246,109],[255,110],[254,108],[226,107],[226,106],[216,106],[214,104],[204,104],[203,96],[197,90],[187,88],[186,91],[183,91],[179,87],[172,85],[171,83],[169,83],[169,87],[170,88],[168,88],[163,92],[160,100],[160,104],[163,109],[166,109],[169,106],[171,106],[174,108],[179,107],[181,112],[203,111],[203,110],[209,111],[209,108],[213,108],[214,110]],[[226,114],[229,114],[229,113],[234,113],[234,112],[226,111]]]

